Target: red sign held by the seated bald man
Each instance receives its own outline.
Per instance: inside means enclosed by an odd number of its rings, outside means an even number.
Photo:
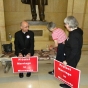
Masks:
[[[38,72],[38,57],[33,56],[29,59],[12,57],[13,73]]]

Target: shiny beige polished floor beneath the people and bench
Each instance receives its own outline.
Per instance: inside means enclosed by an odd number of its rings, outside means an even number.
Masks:
[[[0,88],[60,88],[61,81],[48,74],[52,69],[53,60],[39,61],[37,73],[32,73],[31,77],[24,74],[24,78],[19,78],[18,74],[13,74],[12,68],[8,73],[4,73],[0,63]],[[79,88],[88,88],[88,51],[82,51],[77,69],[81,70]]]

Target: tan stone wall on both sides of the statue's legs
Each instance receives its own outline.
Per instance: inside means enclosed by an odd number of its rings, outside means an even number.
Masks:
[[[3,0],[5,9],[6,21],[6,36],[18,31],[19,24],[23,20],[31,20],[30,5],[21,3],[21,0]],[[53,21],[57,26],[63,27],[63,19],[67,15],[68,0],[48,0],[48,5],[45,6],[45,20]],[[38,9],[37,9],[38,13]],[[39,17],[37,18],[39,20]]]

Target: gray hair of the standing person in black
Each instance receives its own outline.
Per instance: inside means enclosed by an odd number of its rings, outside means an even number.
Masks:
[[[78,21],[74,16],[68,16],[64,19],[64,23],[68,24],[70,28],[76,28],[78,27]]]

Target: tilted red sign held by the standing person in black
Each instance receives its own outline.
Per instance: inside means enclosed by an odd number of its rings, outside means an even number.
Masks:
[[[71,88],[79,88],[80,70],[54,60],[54,76]]]

